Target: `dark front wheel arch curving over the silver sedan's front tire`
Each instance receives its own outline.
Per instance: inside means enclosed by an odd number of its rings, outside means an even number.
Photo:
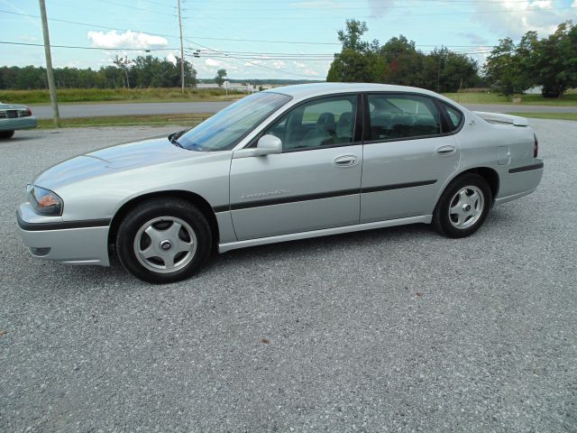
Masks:
[[[213,235],[213,244],[218,245],[220,236],[218,230],[218,222],[216,221],[215,211],[213,207],[210,206],[206,198],[199,196],[198,194],[185,191],[185,190],[166,190],[166,191],[155,191],[148,194],[142,194],[142,196],[138,196],[135,198],[131,198],[126,203],[123,204],[118,210],[115,212],[114,217],[112,218],[112,222],[110,224],[110,230],[108,230],[108,244],[114,244],[116,240],[116,235],[118,233],[118,227],[120,226],[121,221],[124,219],[126,215],[137,205],[158,198],[179,198],[192,205],[198,207],[198,210],[206,217],[206,221],[208,222],[208,226],[210,226],[210,231]]]

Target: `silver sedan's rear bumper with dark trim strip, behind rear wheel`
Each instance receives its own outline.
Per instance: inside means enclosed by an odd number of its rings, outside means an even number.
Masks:
[[[530,165],[501,172],[499,195],[495,199],[495,204],[507,203],[531,194],[541,182],[543,170],[543,160],[536,158]]]

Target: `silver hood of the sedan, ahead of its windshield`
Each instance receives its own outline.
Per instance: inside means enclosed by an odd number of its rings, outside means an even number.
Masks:
[[[62,161],[43,171],[32,183],[54,190],[79,180],[172,161],[194,159],[205,153],[182,149],[170,143],[167,137],[119,144]]]

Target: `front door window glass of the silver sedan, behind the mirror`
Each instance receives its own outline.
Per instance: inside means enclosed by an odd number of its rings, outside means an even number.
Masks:
[[[357,97],[324,97],[297,106],[266,134],[279,137],[283,152],[353,143]]]

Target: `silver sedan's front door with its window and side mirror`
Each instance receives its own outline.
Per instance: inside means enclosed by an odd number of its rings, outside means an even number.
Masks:
[[[261,134],[278,136],[282,153],[232,160],[231,215],[239,241],[358,224],[360,110],[357,94],[307,100]]]

